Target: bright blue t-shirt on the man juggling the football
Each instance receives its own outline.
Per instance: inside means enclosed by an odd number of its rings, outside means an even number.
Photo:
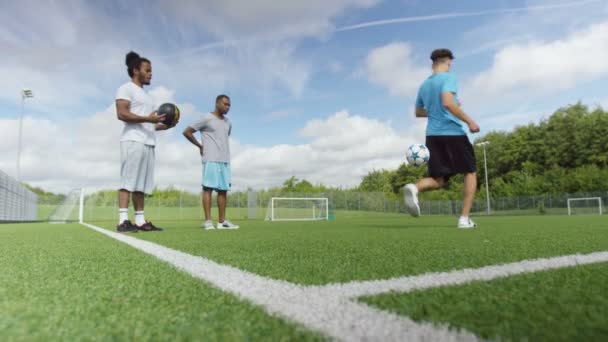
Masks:
[[[462,122],[443,107],[441,93],[454,93],[454,101],[458,103],[458,85],[456,76],[442,72],[427,78],[416,97],[416,107],[424,108],[428,114],[426,135],[466,135]]]

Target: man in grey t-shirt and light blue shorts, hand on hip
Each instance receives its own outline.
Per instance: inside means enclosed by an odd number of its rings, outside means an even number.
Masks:
[[[203,208],[205,223],[203,228],[215,229],[211,221],[211,195],[217,192],[219,220],[217,229],[238,229],[239,226],[226,220],[226,198],[230,190],[230,144],[228,138],[232,124],[226,117],[230,110],[230,98],[219,95],[215,99],[215,110],[203,115],[184,130],[184,136],[197,146],[203,159]],[[194,137],[194,132],[201,133],[201,141]]]

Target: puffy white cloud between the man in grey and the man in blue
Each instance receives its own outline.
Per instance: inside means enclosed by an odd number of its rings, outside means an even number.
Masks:
[[[235,184],[277,186],[295,175],[313,183],[356,186],[371,170],[397,168],[406,147],[423,139],[420,127],[401,134],[390,122],[340,111],[307,122],[300,130],[302,137],[310,139],[306,144],[262,148],[234,142]]]

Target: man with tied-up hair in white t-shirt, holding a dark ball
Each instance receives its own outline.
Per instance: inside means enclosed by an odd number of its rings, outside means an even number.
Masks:
[[[125,123],[120,138],[119,218],[116,230],[124,233],[160,231],[144,216],[144,194],[154,187],[154,147],[156,131],[167,126],[154,109],[154,101],[143,89],[152,79],[152,64],[131,51],[126,58],[131,81],[116,92],[116,114]],[[129,197],[133,200],[135,224],[129,220]]]

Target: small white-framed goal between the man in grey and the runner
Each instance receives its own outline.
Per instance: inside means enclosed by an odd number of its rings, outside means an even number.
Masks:
[[[312,221],[329,218],[327,198],[273,197],[268,202],[266,220]]]

